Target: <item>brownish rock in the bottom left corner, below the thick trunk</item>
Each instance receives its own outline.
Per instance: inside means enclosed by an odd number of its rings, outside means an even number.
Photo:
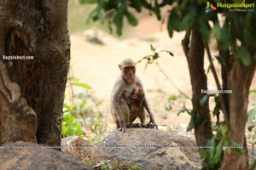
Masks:
[[[84,164],[83,161],[75,160],[72,156],[66,156],[61,151],[44,148],[40,144],[32,143],[9,143],[0,148],[1,170],[90,170],[94,169]]]

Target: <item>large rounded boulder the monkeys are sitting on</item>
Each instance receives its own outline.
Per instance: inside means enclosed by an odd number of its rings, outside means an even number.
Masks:
[[[201,158],[193,145],[194,140],[176,133],[128,128],[125,133],[108,134],[90,160],[98,164],[109,161],[113,169],[117,165],[127,169],[132,165],[143,170],[201,169]]]

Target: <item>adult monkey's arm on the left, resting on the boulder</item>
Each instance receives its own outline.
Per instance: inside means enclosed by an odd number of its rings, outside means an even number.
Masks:
[[[116,113],[116,116],[119,120],[119,131],[125,132],[125,126],[126,126],[125,117],[119,104],[123,91],[124,91],[124,84],[119,83],[113,92],[112,105],[113,105],[113,110]]]

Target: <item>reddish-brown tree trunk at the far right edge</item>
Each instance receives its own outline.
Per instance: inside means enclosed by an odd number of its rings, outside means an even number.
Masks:
[[[255,56],[255,54],[252,56]],[[246,67],[236,62],[228,72],[228,89],[232,90],[232,94],[229,94],[230,119],[228,136],[236,144],[243,145],[244,153],[240,155],[236,150],[232,150],[230,155],[224,153],[221,169],[248,169],[245,128],[249,89],[253,81],[255,68],[255,61],[252,57],[251,65]]]

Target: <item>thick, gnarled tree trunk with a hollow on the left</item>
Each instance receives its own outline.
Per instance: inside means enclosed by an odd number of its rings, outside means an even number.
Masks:
[[[70,59],[67,0],[0,0],[0,9],[0,144],[59,145]]]

